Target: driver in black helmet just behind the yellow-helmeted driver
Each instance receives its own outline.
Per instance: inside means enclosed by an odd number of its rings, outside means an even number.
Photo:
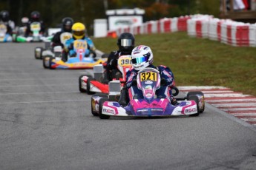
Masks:
[[[73,18],[65,17],[62,19],[62,30],[53,36],[52,47],[62,46],[63,48],[65,46],[65,44],[62,44],[61,42],[61,35],[62,33],[65,33],[65,32],[71,33],[72,25],[73,25]],[[67,39],[69,38],[71,37],[67,37]]]

